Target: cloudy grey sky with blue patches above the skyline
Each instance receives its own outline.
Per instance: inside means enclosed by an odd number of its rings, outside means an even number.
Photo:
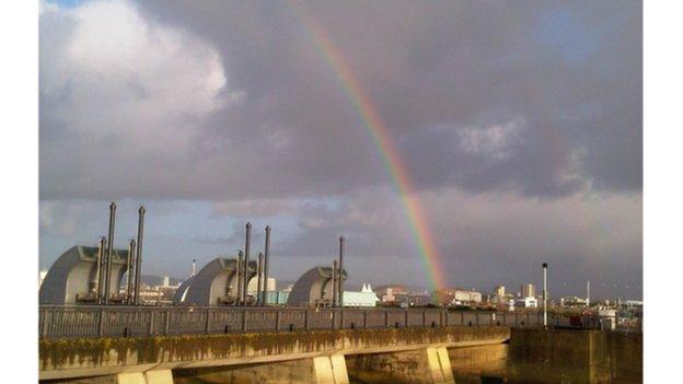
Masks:
[[[296,280],[641,298],[639,1],[43,1],[39,265],[106,235],[182,278],[244,247]],[[315,26],[315,27],[313,27]],[[323,34],[383,123],[403,195]],[[317,34],[317,35],[316,35]],[[402,199],[403,198],[403,199]]]

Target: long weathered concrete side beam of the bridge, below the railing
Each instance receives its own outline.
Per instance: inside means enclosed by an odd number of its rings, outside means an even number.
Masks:
[[[43,339],[42,380],[273,363],[334,354],[503,342],[506,327],[344,329],[143,338]],[[333,364],[325,362],[325,364]]]

